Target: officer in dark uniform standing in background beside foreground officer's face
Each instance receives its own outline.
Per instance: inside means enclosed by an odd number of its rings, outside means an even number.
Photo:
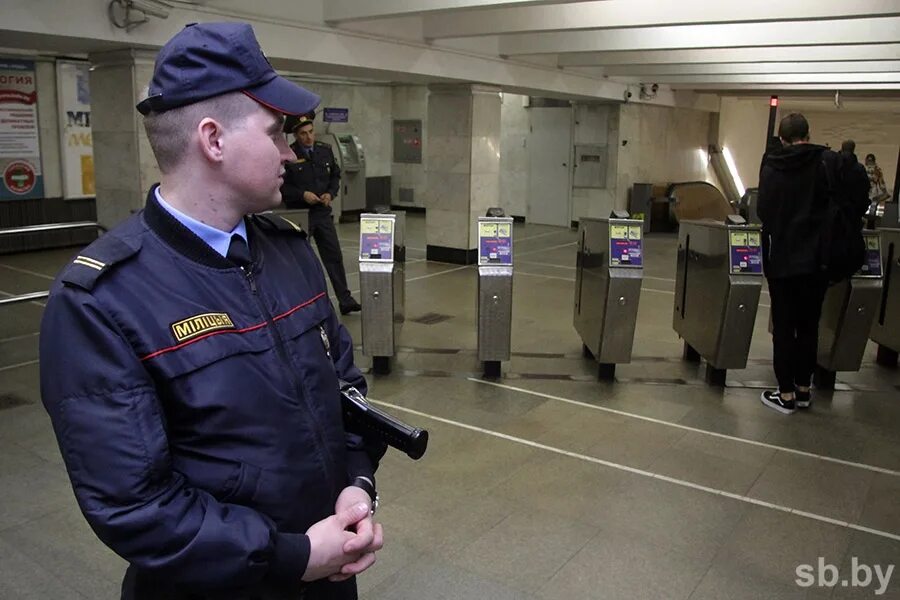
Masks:
[[[288,208],[309,209],[309,234],[316,240],[341,314],[357,312],[362,307],[347,287],[344,257],[331,216],[331,202],[341,187],[341,169],[334,160],[331,146],[316,141],[312,115],[289,121],[286,129],[294,134],[291,149],[297,160],[286,166],[281,197]]]

